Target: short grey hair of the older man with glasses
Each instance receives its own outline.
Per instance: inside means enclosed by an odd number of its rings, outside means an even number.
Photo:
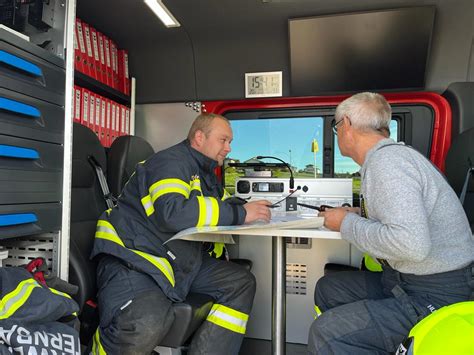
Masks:
[[[345,99],[336,108],[336,122],[344,116],[347,116],[357,129],[390,135],[392,109],[380,94],[362,92]]]

